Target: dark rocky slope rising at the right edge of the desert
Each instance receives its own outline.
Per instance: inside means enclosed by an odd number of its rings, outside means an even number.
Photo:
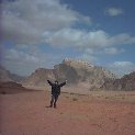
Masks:
[[[108,80],[101,89],[104,90],[135,90],[135,71],[123,76],[121,79]]]

